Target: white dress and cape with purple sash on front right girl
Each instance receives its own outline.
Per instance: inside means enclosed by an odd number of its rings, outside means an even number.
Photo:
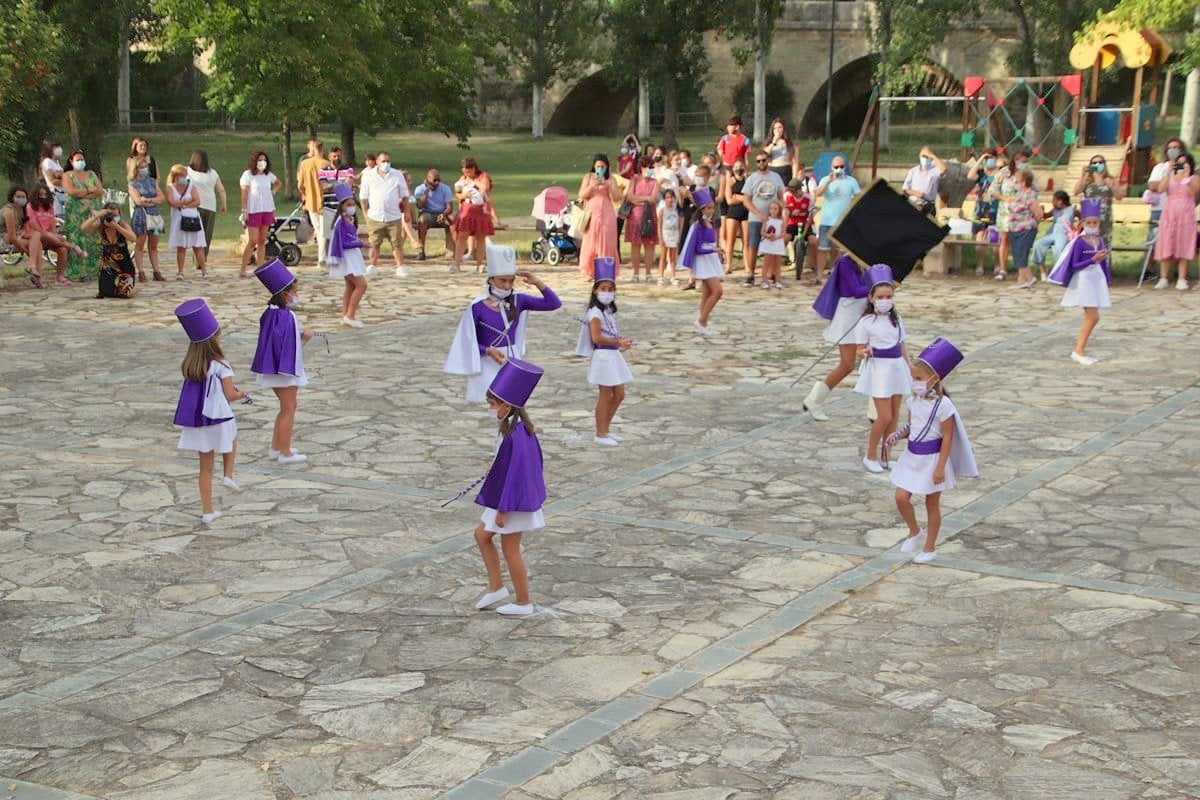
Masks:
[[[893,486],[913,494],[934,494],[954,488],[955,477],[978,477],[971,440],[962,419],[949,397],[913,397],[905,401],[910,414],[908,449],[892,467]],[[934,483],[938,453],[942,451],[942,422],[954,417],[954,440],[946,462],[946,475]]]

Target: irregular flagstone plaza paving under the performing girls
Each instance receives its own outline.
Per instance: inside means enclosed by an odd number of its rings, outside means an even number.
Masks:
[[[532,618],[475,612],[494,428],[442,360],[480,276],[372,279],[361,331],[306,264],[312,384],[235,405],[239,494],[199,523],[170,426],[202,294],[241,386],[264,301],[221,263],[132,302],[0,293],[0,798],[1039,800],[1200,795],[1200,291],[913,276],[983,475],[910,564],[850,381],[818,423],[809,287],[625,285],[625,443],[592,444],[586,285],[530,321],[551,500]],[[923,517],[923,509],[919,510]]]

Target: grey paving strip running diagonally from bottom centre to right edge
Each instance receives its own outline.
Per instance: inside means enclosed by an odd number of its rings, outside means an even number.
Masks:
[[[942,521],[942,530],[949,533],[944,533],[938,539],[944,541],[944,539],[966,530],[996,510],[1007,507],[1033,489],[1040,488],[1045,482],[1067,474],[1070,469],[1140,433],[1154,422],[1166,419],[1196,398],[1200,398],[1200,389],[1182,390],[1157,405],[1129,417],[1126,422],[1092,437],[1076,447],[1084,455],[1073,458],[1055,458],[1027,475],[1013,479],[989,494],[947,515]],[[630,690],[595,711],[566,723],[547,735],[538,746],[527,747],[496,766],[452,787],[440,795],[439,800],[499,800],[505,793],[545,772],[563,758],[595,744],[647,711],[658,708],[664,700],[678,697],[754,651],[794,632],[817,615],[846,600],[850,593],[870,587],[908,563],[908,557],[900,553],[899,545],[892,547],[869,561],[864,561],[802,594],[776,610],[767,613],[740,631],[702,648],[676,667]],[[1103,581],[1093,583],[1090,579],[1079,579],[1079,583],[1085,584],[1085,588],[1096,588],[1102,591],[1106,590],[1105,584],[1132,585]]]

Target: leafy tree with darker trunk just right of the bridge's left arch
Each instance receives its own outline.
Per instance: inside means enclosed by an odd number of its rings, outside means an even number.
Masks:
[[[612,44],[608,67],[628,83],[662,86],[662,144],[679,138],[679,82],[700,83],[707,70],[704,31],[714,25],[708,7],[688,0],[612,0],[606,14]]]

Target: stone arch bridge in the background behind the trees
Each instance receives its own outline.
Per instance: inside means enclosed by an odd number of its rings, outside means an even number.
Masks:
[[[829,79],[829,14],[834,17],[835,134],[858,132],[871,90],[874,54],[870,43],[872,4],[863,0],[790,0],[775,29],[768,72],[781,72],[794,94],[790,122],[802,133],[824,130],[826,83]],[[955,94],[967,76],[1003,76],[1004,59],[1016,42],[1010,22],[979,19],[952,26],[946,40],[928,54],[929,88]],[[730,43],[716,35],[706,41],[709,58],[703,102],[714,120],[733,110],[739,83],[752,65],[738,67]],[[548,88],[544,98],[546,130],[553,133],[612,134],[634,125],[636,88],[610,80],[594,67],[578,80]],[[770,100],[767,102],[772,112]],[[511,124],[528,126],[528,107],[511,109]],[[523,114],[523,119],[521,115]],[[750,121],[746,121],[750,127]]]

